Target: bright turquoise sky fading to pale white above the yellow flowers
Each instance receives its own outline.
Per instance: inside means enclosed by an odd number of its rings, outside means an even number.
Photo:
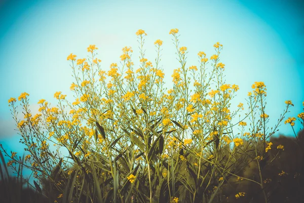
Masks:
[[[171,83],[178,68],[169,31],[178,28],[180,46],[188,48],[188,65],[198,65],[197,53],[213,55],[213,44],[223,45],[221,61],[226,81],[240,90],[234,105],[245,98],[255,81],[267,86],[266,112],[275,126],[285,109],[286,117],[302,112],[304,101],[304,3],[303,1],[16,1],[0,0],[0,143],[22,155],[20,136],[8,99],[30,94],[37,112],[39,99],[54,106],[56,91],[67,94],[73,82],[66,57],[88,55],[87,47],[98,47],[102,67],[119,64],[121,49],[131,46],[133,60],[139,56],[138,29],[146,31],[146,56],[156,57],[154,42],[163,44],[162,65]],[[137,58],[137,59],[136,59]],[[20,112],[21,113],[21,112]],[[299,130],[300,123],[295,125]],[[281,123],[279,132],[292,135],[290,125]],[[277,133],[276,133],[277,134]]]

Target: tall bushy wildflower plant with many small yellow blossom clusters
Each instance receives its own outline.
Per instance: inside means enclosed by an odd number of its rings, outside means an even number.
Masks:
[[[186,65],[188,52],[179,46],[178,32],[169,32],[180,63],[173,70],[170,89],[165,87],[160,65],[163,41],[155,41],[157,57],[151,62],[145,58],[146,33],[139,29],[138,66],[132,61],[131,47],[122,49],[121,65],[111,63],[108,71],[102,69],[95,45],[88,47],[88,58],[68,55],[75,79],[70,86],[74,101],[58,91],[56,107],[41,99],[40,113],[31,115],[29,94],[24,92],[18,98],[24,119],[18,120],[17,101],[10,98],[28,155],[23,163],[6,153],[11,158],[8,165],[30,168],[37,180],[33,187],[39,190],[48,182],[57,192],[49,198],[57,202],[212,202],[221,198],[222,188],[230,178],[240,178],[237,173],[246,164],[254,160],[259,165],[271,149],[268,139],[293,105],[286,103],[278,124],[269,130],[267,88],[255,82],[248,93],[248,112],[234,119],[244,105],[231,111],[239,86],[224,80],[223,46],[214,44],[210,58],[200,51],[199,63]],[[63,149],[68,155],[61,153]],[[258,181],[246,180],[264,187],[261,173]],[[242,191],[235,195],[244,196]]]

